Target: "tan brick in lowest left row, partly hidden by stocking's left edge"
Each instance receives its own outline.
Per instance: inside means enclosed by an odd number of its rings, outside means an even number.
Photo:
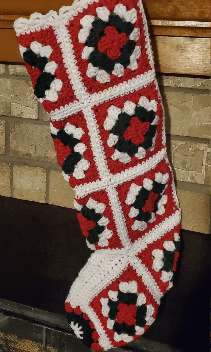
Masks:
[[[49,204],[60,207],[74,208],[73,199],[75,192],[69,183],[64,180],[62,172],[50,171],[49,178]]]

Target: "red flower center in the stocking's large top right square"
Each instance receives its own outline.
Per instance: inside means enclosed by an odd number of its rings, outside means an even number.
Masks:
[[[126,33],[118,33],[115,27],[108,26],[104,30],[103,36],[97,44],[100,52],[107,54],[110,59],[116,60],[121,55],[121,48],[127,43],[128,37]]]

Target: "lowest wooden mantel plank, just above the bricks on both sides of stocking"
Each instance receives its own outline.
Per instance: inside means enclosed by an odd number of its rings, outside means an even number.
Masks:
[[[156,72],[172,74],[210,74],[210,39],[151,37]],[[23,62],[12,29],[0,29],[0,61]]]

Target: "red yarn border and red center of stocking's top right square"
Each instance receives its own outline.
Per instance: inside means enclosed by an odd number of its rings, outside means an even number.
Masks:
[[[123,4],[124,6],[127,7],[127,10],[131,10],[132,8],[135,8],[135,10],[138,13],[138,18],[134,24],[134,27],[140,29],[140,36],[139,39],[136,42],[137,46],[141,47],[141,54],[140,57],[138,58],[138,68],[136,70],[131,70],[129,68],[126,68],[124,70],[124,74],[122,77],[117,77],[116,75],[111,74],[110,75],[110,82],[108,83],[100,83],[95,80],[95,77],[89,78],[86,74],[87,68],[88,68],[88,63],[89,61],[87,59],[82,59],[81,54],[82,51],[85,47],[85,44],[79,43],[78,42],[78,33],[82,29],[82,26],[80,24],[80,20],[85,16],[85,15],[93,15],[97,16],[96,13],[96,8],[100,6],[106,6],[108,10],[112,13],[114,11],[114,8],[117,4]],[[151,65],[149,63],[149,58],[147,54],[147,48],[146,46],[146,37],[145,37],[145,30],[143,29],[144,24],[143,24],[143,19],[142,19],[142,13],[140,12],[140,8],[138,6],[138,1],[137,0],[117,0],[117,1],[110,1],[110,0],[100,0],[99,2],[94,2],[92,5],[88,5],[87,8],[84,8],[83,12],[79,12],[76,16],[73,17],[73,20],[70,20],[69,24],[67,25],[68,31],[71,35],[71,40],[72,40],[72,45],[73,45],[73,50],[74,50],[74,55],[77,61],[77,66],[80,71],[80,75],[82,77],[82,81],[84,83],[84,86],[87,88],[87,92],[90,94],[93,93],[98,93],[102,92],[104,89],[108,89],[109,87],[114,87],[115,85],[118,85],[119,83],[123,83],[124,81],[128,81],[129,79],[132,79],[133,77],[137,77],[138,75],[141,75],[145,72],[148,72],[151,70]],[[108,31],[108,33],[107,33]],[[110,35],[114,35],[115,29],[110,28],[107,29],[106,31],[106,36],[101,38],[101,40],[98,43],[98,50],[99,51],[104,51],[109,47],[109,42],[110,42]],[[108,50],[107,55],[110,58],[117,58],[116,56],[118,54],[118,49],[121,49],[121,47],[124,45],[126,42],[126,37],[122,34],[117,34],[118,40],[115,38],[116,44],[115,50]],[[118,44],[119,43],[119,44]],[[117,51],[116,51],[117,50]],[[115,52],[114,52],[115,51]]]

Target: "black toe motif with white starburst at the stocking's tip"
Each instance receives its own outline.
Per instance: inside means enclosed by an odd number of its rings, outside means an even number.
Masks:
[[[90,320],[85,320],[83,314],[77,315],[74,312],[66,313],[66,318],[77,338],[86,347],[91,348],[91,345],[95,342],[91,335],[95,330],[90,327]]]

